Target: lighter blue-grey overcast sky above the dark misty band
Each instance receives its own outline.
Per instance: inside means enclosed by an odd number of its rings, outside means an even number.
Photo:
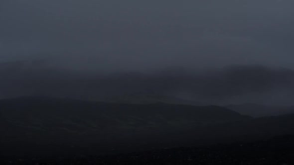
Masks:
[[[294,69],[293,0],[1,0],[0,62],[76,70]]]

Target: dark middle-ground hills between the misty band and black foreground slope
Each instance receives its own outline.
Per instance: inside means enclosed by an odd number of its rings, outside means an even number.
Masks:
[[[294,133],[294,115],[251,118],[220,106],[19,97],[0,100],[0,114],[8,154],[138,151]]]

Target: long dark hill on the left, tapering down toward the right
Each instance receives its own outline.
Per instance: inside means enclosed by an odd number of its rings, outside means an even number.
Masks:
[[[0,113],[5,123],[0,127],[6,130],[1,138],[6,142],[42,141],[43,136],[57,141],[64,137],[74,141],[85,137],[108,139],[250,118],[219,106],[118,104],[49,97],[2,99]]]

